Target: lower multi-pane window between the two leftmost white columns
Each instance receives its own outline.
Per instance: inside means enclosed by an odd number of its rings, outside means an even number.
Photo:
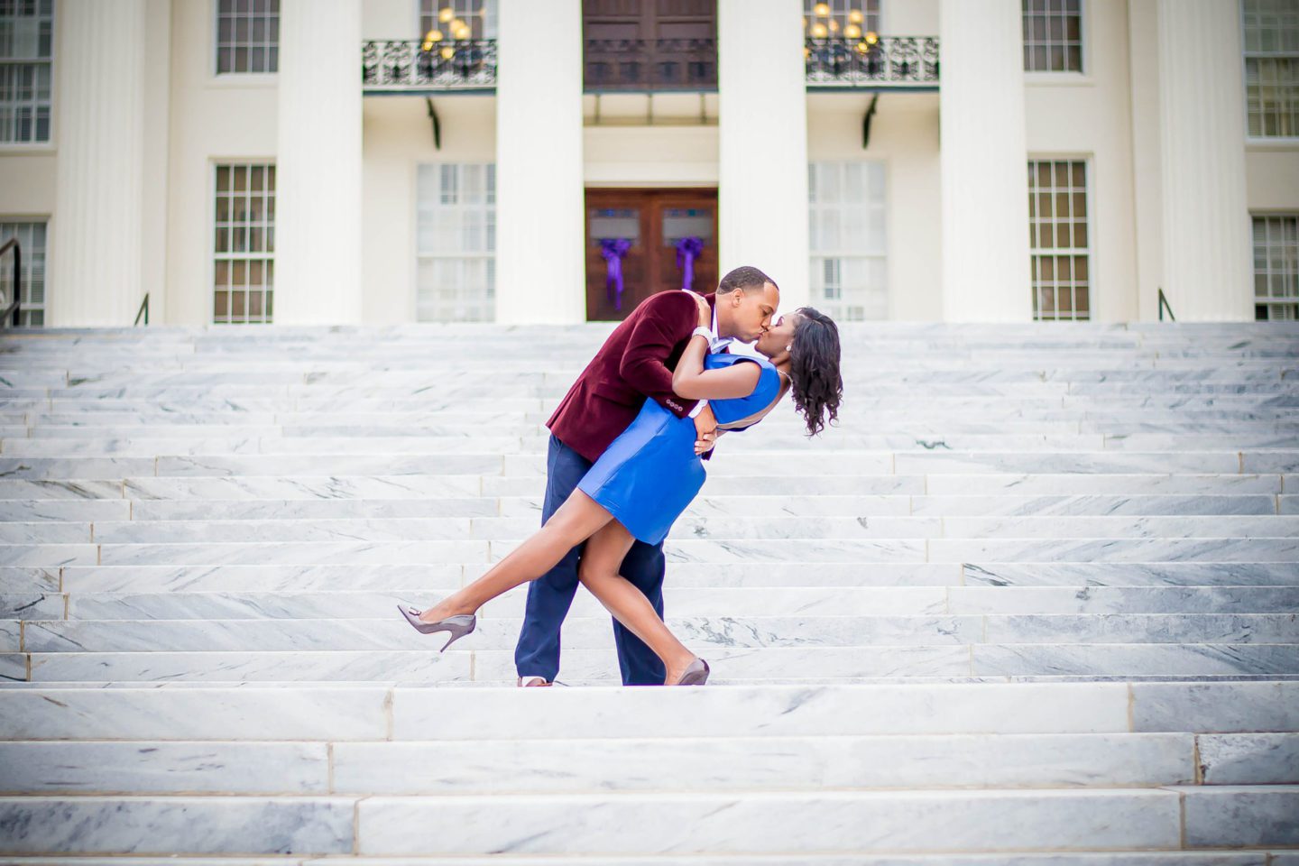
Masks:
[[[270,322],[275,286],[275,166],[218,165],[214,325]]]

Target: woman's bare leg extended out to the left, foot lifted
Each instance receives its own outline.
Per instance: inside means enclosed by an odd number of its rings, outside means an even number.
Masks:
[[[565,553],[612,522],[614,521],[609,513],[594,499],[582,491],[573,491],[535,535],[488,569],[487,574],[422,612],[420,619],[436,622],[477,612],[503,592],[542,576],[553,569]]]

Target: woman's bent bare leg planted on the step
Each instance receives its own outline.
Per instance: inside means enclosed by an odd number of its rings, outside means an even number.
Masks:
[[[579,495],[574,493],[574,496]],[[581,493],[585,496],[585,493]],[[695,654],[682,645],[655,612],[644,593],[618,574],[622,558],[635,541],[626,527],[614,519],[586,541],[578,580],[631,634],[643,640],[662,660],[668,670],[665,683],[675,683],[686,673]]]

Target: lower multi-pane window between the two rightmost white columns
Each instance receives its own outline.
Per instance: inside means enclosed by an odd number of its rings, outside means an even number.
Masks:
[[[1029,161],[1029,245],[1033,318],[1091,318],[1087,164]]]

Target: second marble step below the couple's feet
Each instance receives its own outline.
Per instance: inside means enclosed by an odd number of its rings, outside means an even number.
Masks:
[[[0,743],[3,795],[485,795],[1299,783],[1299,735]]]

